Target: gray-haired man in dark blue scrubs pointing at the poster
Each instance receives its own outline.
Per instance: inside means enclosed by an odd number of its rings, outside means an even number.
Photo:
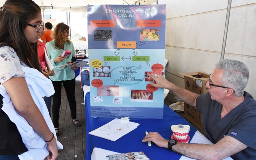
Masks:
[[[186,144],[166,140],[157,132],[146,135],[142,142],[152,141],[194,159],[255,159],[256,101],[244,91],[248,83],[247,66],[236,60],[219,61],[209,81],[209,92],[197,95],[174,85],[164,77],[154,77],[152,86],[166,88],[202,113],[203,127],[214,144]]]

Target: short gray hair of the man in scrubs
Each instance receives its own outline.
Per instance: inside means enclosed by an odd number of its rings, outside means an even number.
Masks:
[[[242,97],[249,80],[248,67],[237,60],[221,60],[216,64],[216,68],[223,70],[222,85],[231,88],[238,97]]]

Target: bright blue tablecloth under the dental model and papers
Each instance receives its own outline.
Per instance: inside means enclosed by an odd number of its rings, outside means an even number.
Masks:
[[[182,155],[169,151],[166,148],[156,146],[154,143],[151,147],[147,143],[141,142],[145,137],[145,131],[157,131],[165,139],[170,139],[172,135],[171,126],[182,124],[190,125],[184,118],[172,111],[167,105],[163,107],[163,119],[138,119],[130,118],[131,122],[139,123],[138,128],[124,135],[115,142],[106,140],[94,135],[88,134],[106,123],[109,123],[114,118],[94,118],[90,113],[90,93],[86,93],[85,97],[85,114],[86,114],[86,160],[91,159],[91,153],[94,147],[115,151],[118,153],[126,153],[132,151],[144,151],[144,153],[153,160],[177,160]],[[146,114],[146,113],[145,113]],[[190,140],[194,136],[196,129],[190,125],[189,136]]]

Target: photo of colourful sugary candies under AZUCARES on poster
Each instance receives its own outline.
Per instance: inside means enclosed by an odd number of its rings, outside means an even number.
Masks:
[[[140,41],[159,41],[159,29],[140,29]]]

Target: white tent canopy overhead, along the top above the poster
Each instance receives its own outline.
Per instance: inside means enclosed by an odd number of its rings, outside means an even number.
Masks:
[[[6,0],[0,0],[3,6]],[[65,12],[86,12],[88,5],[97,4],[152,4],[156,0],[33,0],[42,10],[54,9]]]

